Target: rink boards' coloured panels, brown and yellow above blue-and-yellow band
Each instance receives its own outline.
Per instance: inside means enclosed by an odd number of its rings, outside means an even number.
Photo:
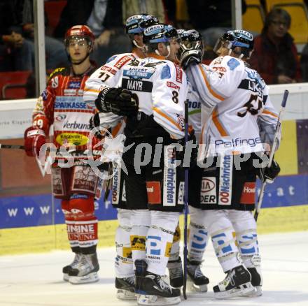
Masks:
[[[308,120],[283,122],[282,140],[275,154],[281,175],[267,185],[258,220],[260,233],[308,229]],[[0,254],[67,249],[60,203],[56,200],[52,205],[50,175],[42,180],[34,159],[21,150],[1,150],[0,157]],[[110,201],[100,200],[95,214],[99,246],[113,245],[116,210]]]

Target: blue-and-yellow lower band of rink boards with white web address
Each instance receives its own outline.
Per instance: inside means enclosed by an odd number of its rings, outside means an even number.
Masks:
[[[308,230],[307,185],[308,175],[281,176],[267,185],[259,232]],[[101,220],[99,247],[113,246],[116,209],[110,201],[101,201],[95,205],[95,214]],[[0,255],[69,248],[60,203],[55,201],[52,207],[50,195],[1,198],[0,220]],[[183,229],[183,217],[181,226]]]

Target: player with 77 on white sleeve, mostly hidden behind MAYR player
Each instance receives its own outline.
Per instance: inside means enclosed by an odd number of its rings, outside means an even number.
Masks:
[[[142,40],[143,31],[146,27],[157,23],[157,17],[147,14],[138,14],[127,18],[125,27],[126,33],[132,41],[132,53],[114,55],[90,76],[85,87],[85,101],[88,103],[95,101],[102,85],[115,86],[118,78],[120,78],[121,68],[128,61],[146,57]],[[100,124],[101,122],[102,124]],[[123,133],[125,121],[123,116],[115,115],[112,112],[99,112],[92,117],[92,127],[96,126],[101,126],[104,129],[113,127],[113,136],[116,137],[119,133]],[[128,210],[126,206],[125,183],[120,169],[116,170],[111,189],[113,194],[111,203],[118,210],[117,256],[115,260],[117,298],[120,300],[135,300],[135,275],[132,260],[132,253],[135,250],[132,252],[130,239],[131,236],[134,236],[130,221],[132,210]]]

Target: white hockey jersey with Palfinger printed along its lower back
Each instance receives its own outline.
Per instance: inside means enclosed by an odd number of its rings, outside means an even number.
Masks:
[[[202,143],[207,154],[263,151],[258,117],[276,126],[278,116],[257,71],[241,59],[225,56],[209,66],[190,66],[186,73],[202,100]]]

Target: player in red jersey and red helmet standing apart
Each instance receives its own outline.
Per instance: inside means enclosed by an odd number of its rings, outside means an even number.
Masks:
[[[89,59],[94,38],[85,25],[73,26],[66,32],[64,43],[71,66],[52,72],[36,102],[32,126],[25,131],[28,156],[38,156],[50,125],[53,125],[53,142],[57,148],[76,146],[73,166],[61,168],[57,158],[52,164],[52,192],[55,198],[62,200],[69,243],[75,254],[73,262],[63,268],[64,280],[71,284],[99,279],[97,217],[94,215],[99,178],[90,165],[81,161],[87,158],[82,152],[87,149],[89,120],[95,112],[94,105],[90,107],[83,101],[85,81],[96,68]],[[93,140],[94,145],[95,138]]]

